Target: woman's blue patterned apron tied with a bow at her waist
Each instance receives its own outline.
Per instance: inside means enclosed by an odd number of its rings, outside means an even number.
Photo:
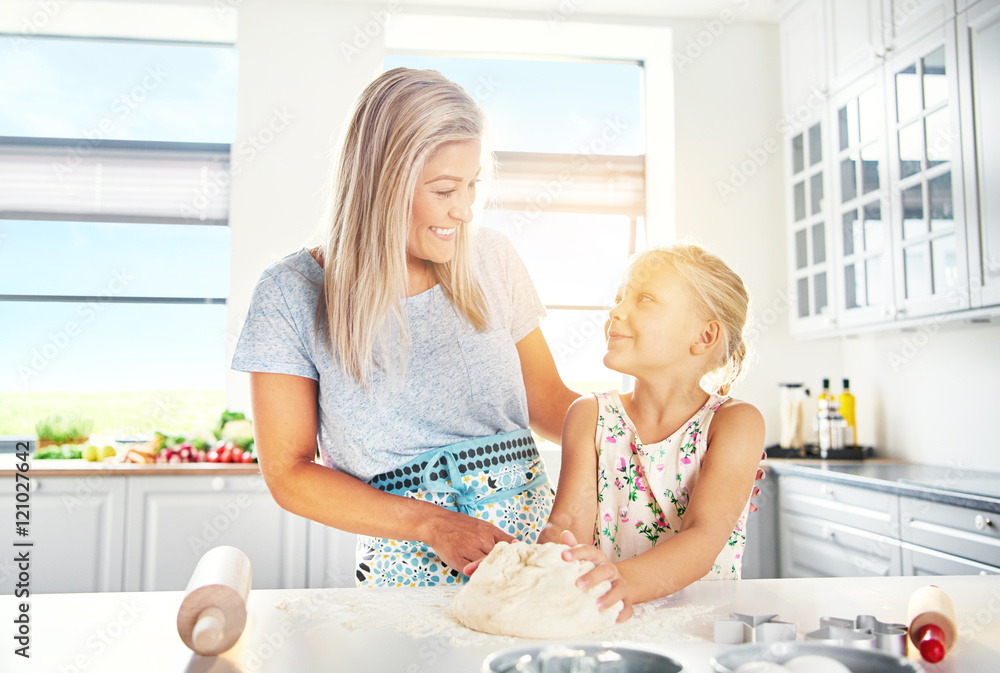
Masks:
[[[534,542],[553,491],[530,430],[450,444],[377,475],[370,485],[488,521]],[[357,584],[434,586],[464,581],[423,542],[358,536]]]

